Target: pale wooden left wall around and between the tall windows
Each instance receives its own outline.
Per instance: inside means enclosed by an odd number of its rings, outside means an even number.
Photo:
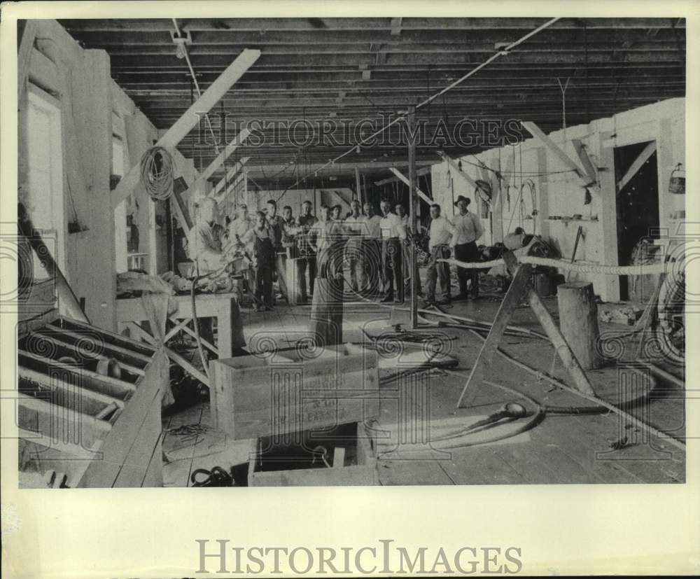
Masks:
[[[34,32],[34,38],[24,50],[27,57],[20,60],[20,80],[37,85],[60,104],[64,221],[75,221],[77,216],[84,229],[66,232],[64,273],[78,298],[85,298],[92,323],[112,330],[116,328],[116,247],[109,200],[113,111],[122,116],[127,127],[123,139],[127,164],[139,162],[151,139],[157,138],[157,131],[112,80],[109,55],[104,50],[83,50],[55,20],[32,22],[30,32]],[[27,68],[23,62],[28,63],[27,70],[23,70]],[[20,146],[26,142],[26,106],[26,90],[20,88]],[[129,127],[139,127],[139,137],[130,139]],[[27,167],[21,160],[26,154],[20,153],[19,198],[28,202],[31,215]],[[148,208],[149,203],[148,199],[139,200],[141,208]],[[139,218],[151,222],[147,210],[141,209]],[[141,239],[148,240],[148,228],[141,232]],[[144,252],[151,251],[145,246]]]

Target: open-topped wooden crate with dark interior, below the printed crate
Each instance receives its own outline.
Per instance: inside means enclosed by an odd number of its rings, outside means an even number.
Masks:
[[[286,440],[285,440],[286,438]],[[328,450],[309,466],[309,451]],[[287,437],[258,438],[255,456],[248,463],[249,487],[346,487],[379,484],[374,439],[360,422],[324,431],[303,431]],[[287,468],[285,468],[285,466]],[[295,468],[296,467],[296,468]]]

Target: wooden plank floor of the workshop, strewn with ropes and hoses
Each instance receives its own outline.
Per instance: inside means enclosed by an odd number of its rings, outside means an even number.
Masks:
[[[556,298],[544,300],[551,312],[556,312]],[[279,302],[278,302],[279,304]],[[485,297],[476,302],[454,302],[449,313],[481,321],[491,321],[496,315],[500,298]],[[277,347],[292,347],[307,336],[310,306],[290,308],[277,305],[272,312],[241,309],[248,349],[256,349],[261,340],[272,339]],[[435,318],[434,318],[435,319]],[[408,313],[400,307],[389,309],[372,303],[348,303],[344,316],[344,340],[360,342],[363,332],[372,335],[393,331],[391,326],[402,323],[408,328]],[[529,307],[519,307],[512,323],[540,330]],[[601,333],[622,336],[628,326],[601,323]],[[458,359],[454,372],[433,370],[430,375],[430,419],[469,417],[495,411],[509,401],[531,403],[512,393],[484,385],[468,409],[456,410],[456,402],[475,361],[482,340],[456,328],[426,329],[427,333],[444,334],[449,354]],[[606,334],[608,335],[608,334]],[[630,372],[624,364],[633,363],[636,342],[622,338],[622,354],[616,365],[610,363],[601,370],[589,372],[596,393],[610,402],[621,396],[618,384],[621,372]],[[506,336],[502,348],[519,361],[570,384],[561,362],[549,342],[530,337]],[[682,373],[680,368],[667,370]],[[386,375],[382,374],[384,377]],[[381,376],[380,376],[381,377]],[[524,372],[503,358],[489,375],[492,382],[510,386],[538,401],[542,406],[580,407],[586,400]],[[395,385],[383,384],[386,397],[381,400],[379,423],[396,420]],[[641,391],[622,392],[634,397]],[[631,413],[655,428],[682,438],[685,433],[685,392],[673,384],[657,381],[652,396]],[[177,431],[176,428],[190,426]],[[231,466],[246,460],[248,442],[232,441],[224,433],[211,428],[209,403],[172,414],[163,420],[163,450],[171,459],[165,462],[164,480],[169,487],[191,486],[190,476],[197,468],[211,469]],[[183,433],[183,430],[186,432]],[[413,459],[380,457],[379,482],[396,484],[638,484],[685,482],[685,452],[659,440],[645,431],[626,424],[617,414],[556,414],[548,412],[545,419],[528,431],[527,440],[508,439],[498,444],[477,445],[452,449],[439,458]],[[612,449],[621,439],[626,445]]]

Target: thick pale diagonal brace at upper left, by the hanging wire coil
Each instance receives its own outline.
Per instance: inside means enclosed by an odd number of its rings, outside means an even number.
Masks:
[[[197,126],[202,116],[211,111],[211,108],[228,92],[241,76],[258,60],[260,50],[246,48],[236,60],[234,60],[214,83],[211,83],[204,95],[197,99],[187,111],[163,134],[155,146],[164,147],[172,151],[186,135]],[[134,165],[130,172],[119,182],[119,185],[111,193],[112,207],[117,207],[125,200],[133,188],[141,179],[141,167]]]

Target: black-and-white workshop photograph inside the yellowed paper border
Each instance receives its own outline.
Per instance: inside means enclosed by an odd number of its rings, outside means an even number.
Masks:
[[[18,496],[685,488],[677,8],[143,4],[17,20]]]

